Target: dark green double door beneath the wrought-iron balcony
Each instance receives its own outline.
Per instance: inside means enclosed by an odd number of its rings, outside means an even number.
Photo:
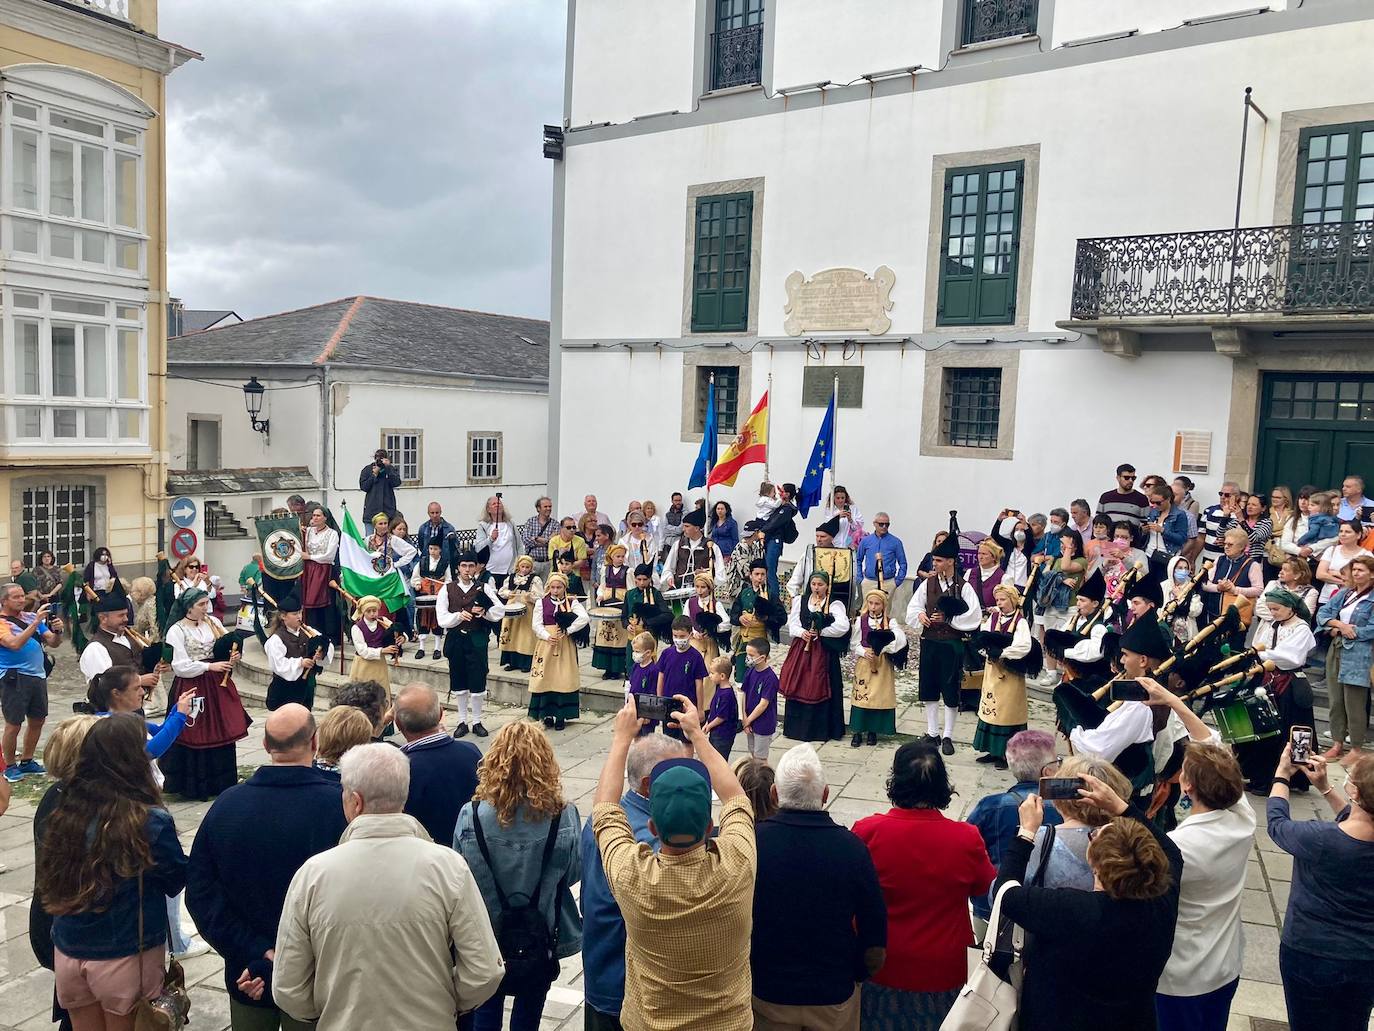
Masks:
[[[1374,375],[1265,373],[1254,489],[1340,488],[1356,474],[1374,491]]]

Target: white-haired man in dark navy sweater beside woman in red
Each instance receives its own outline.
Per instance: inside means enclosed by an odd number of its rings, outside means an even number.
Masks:
[[[863,841],[824,811],[815,748],[783,753],[772,795],[780,808],[756,830],[754,1031],[857,1031],[859,984],[888,944],[878,873]]]

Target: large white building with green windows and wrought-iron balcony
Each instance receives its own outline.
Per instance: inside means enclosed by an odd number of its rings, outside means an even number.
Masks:
[[[1124,461],[1374,481],[1374,7],[1237,7],[569,0],[559,510],[682,489],[712,374],[721,450],[771,384],[798,483],[838,377],[837,478],[912,562]]]

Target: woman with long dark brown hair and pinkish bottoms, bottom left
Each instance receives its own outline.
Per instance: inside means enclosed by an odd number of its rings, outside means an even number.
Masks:
[[[185,887],[187,861],[146,737],[129,715],[87,731],[38,845],[58,1002],[78,1028],[132,1028],[139,999],[162,990],[166,898]]]

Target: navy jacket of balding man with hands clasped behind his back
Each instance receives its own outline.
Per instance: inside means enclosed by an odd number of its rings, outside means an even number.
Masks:
[[[305,766],[262,766],[210,806],[191,845],[185,906],[201,935],[224,957],[229,995],[271,1006],[271,965],[282,903],[305,861],[338,844],[348,826],[342,788]],[[235,982],[251,964],[268,991],[253,1002]]]

